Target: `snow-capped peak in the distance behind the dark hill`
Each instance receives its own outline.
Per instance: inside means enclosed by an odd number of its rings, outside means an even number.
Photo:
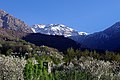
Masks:
[[[65,37],[87,35],[85,32],[78,32],[63,24],[35,24],[31,28],[34,33],[42,33],[47,35],[62,35]]]

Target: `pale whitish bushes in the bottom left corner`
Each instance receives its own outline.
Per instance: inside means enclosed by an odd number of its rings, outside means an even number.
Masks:
[[[24,58],[15,58],[0,54],[0,80],[24,80]]]

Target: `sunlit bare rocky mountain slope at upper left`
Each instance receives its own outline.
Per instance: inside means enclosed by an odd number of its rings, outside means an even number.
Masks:
[[[0,27],[26,33],[32,33],[31,28],[20,19],[0,10]]]

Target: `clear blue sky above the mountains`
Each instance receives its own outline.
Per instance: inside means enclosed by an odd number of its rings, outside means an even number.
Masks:
[[[1,0],[0,9],[28,25],[60,23],[88,33],[120,21],[120,0]]]

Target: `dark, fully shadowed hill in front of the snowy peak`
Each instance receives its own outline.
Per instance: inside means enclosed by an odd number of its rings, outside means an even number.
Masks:
[[[44,35],[40,33],[31,33],[22,38],[23,40],[33,43],[37,46],[45,45],[56,48],[60,51],[65,51],[67,48],[79,49],[80,44],[63,36]]]

